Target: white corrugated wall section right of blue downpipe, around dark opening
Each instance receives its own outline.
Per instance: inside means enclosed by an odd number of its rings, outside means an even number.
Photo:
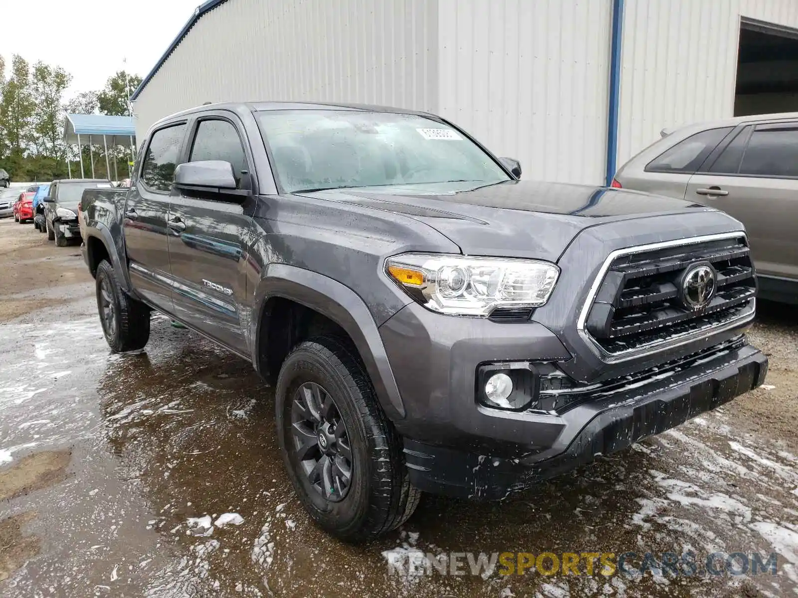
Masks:
[[[666,127],[733,116],[740,18],[798,28],[798,0],[625,0],[618,166]]]

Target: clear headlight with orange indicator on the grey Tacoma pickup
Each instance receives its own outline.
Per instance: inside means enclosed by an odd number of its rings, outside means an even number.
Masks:
[[[549,262],[460,255],[404,254],[385,270],[413,299],[433,312],[488,317],[497,307],[539,307],[559,276]]]

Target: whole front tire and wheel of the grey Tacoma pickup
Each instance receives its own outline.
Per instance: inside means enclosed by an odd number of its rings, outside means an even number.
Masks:
[[[421,491],[410,485],[401,438],[355,355],[331,336],[298,344],[280,368],[275,411],[282,459],[302,506],[328,533],[362,542],[404,523]]]

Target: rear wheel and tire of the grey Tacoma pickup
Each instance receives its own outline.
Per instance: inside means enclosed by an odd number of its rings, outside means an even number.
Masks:
[[[97,313],[105,340],[113,352],[144,348],[149,340],[149,308],[122,290],[108,260],[97,266],[95,276]],[[109,310],[112,310],[109,313]],[[113,321],[109,318],[113,317]]]

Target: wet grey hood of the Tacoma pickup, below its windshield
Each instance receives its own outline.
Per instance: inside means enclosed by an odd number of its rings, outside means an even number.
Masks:
[[[604,222],[714,211],[681,199],[564,183],[433,183],[300,193],[415,218],[467,255],[556,262],[579,232]]]

